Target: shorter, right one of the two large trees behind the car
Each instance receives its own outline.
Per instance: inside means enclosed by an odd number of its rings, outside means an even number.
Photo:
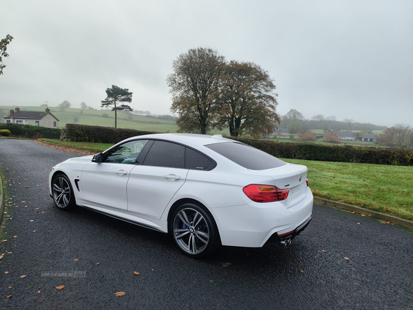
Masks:
[[[230,61],[220,76],[218,129],[229,127],[231,136],[260,136],[275,131],[275,85],[268,72],[255,63]]]

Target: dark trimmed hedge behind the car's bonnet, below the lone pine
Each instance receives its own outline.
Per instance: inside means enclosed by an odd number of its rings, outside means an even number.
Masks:
[[[144,132],[113,127],[100,127],[89,125],[66,124],[62,130],[61,140],[92,143],[118,143],[131,136],[142,134],[156,134],[157,132]]]

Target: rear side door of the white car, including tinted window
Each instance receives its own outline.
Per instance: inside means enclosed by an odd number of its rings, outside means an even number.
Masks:
[[[159,219],[187,174],[185,147],[154,141],[142,165],[131,170],[127,183],[128,211],[136,216]]]

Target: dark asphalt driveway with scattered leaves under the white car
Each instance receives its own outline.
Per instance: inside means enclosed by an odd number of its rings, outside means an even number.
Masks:
[[[47,176],[73,156],[82,154],[0,140],[0,309],[413,309],[409,229],[315,205],[289,247],[193,260],[165,234],[57,209]]]

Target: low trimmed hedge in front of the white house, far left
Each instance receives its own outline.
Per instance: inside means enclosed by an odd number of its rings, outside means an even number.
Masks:
[[[47,128],[14,123],[0,124],[0,130],[10,130],[11,136],[16,136],[19,138],[59,139],[61,136],[61,130],[59,128]]]

